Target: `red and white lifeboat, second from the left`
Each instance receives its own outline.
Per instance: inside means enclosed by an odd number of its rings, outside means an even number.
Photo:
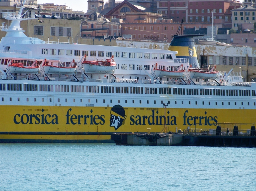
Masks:
[[[65,67],[64,65],[62,66],[61,63],[57,63],[54,65],[53,62],[45,62],[43,65],[43,69],[45,74],[66,74],[66,75],[73,75],[76,72],[77,66],[74,66],[75,60],[70,62],[70,64]]]

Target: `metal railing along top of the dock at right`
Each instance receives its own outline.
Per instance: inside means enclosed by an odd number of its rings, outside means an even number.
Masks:
[[[233,128],[234,126],[228,128],[228,133],[227,128],[221,128],[221,131],[216,129],[184,129],[183,134],[190,136],[251,136],[251,127],[249,125],[248,129],[238,129],[238,131],[233,130]]]

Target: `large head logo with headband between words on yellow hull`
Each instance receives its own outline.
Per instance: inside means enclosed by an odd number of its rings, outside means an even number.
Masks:
[[[118,129],[125,123],[126,115],[124,108],[120,105],[115,105],[110,111],[110,126]]]

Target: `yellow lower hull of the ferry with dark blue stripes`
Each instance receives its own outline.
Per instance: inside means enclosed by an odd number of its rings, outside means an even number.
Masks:
[[[121,107],[121,106],[120,106]],[[0,142],[110,142],[111,133],[160,132],[178,129],[216,129],[233,123],[250,129],[256,123],[252,109],[123,108],[0,106]],[[119,117],[119,118],[118,118]],[[116,119],[116,124],[113,122]],[[232,125],[231,125],[232,126]]]

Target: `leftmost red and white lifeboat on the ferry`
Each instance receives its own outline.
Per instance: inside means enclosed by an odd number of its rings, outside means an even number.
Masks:
[[[34,61],[32,66],[24,66],[23,63],[13,63],[13,61],[11,60],[11,63],[8,65],[8,70],[12,74],[15,74],[15,73],[37,74],[39,73],[40,66],[37,65],[37,60]]]

